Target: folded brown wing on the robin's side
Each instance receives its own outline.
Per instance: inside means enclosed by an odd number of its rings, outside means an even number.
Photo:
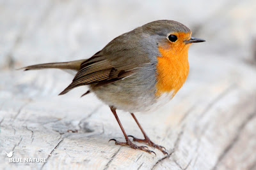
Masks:
[[[140,44],[140,36],[132,31],[127,32],[85,60],[72,83],[60,95],[81,85],[113,83],[133,74],[138,67],[149,62],[148,54]]]

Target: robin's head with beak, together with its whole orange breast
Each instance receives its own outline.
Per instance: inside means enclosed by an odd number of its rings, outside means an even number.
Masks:
[[[143,34],[143,47],[149,58],[156,62],[157,92],[172,92],[172,97],[182,87],[189,72],[188,48],[191,43],[204,42],[193,38],[191,31],[173,20],[157,20],[138,29]]]

